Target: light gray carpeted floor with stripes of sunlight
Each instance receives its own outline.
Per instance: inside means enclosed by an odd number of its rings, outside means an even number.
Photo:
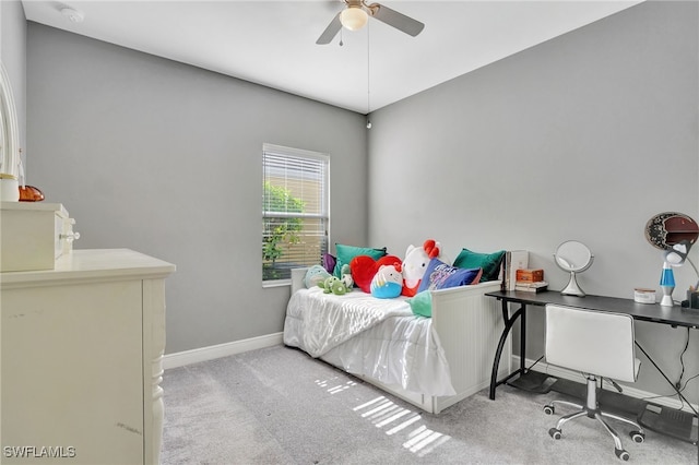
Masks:
[[[167,370],[163,388],[164,465],[621,463],[594,420],[548,436],[554,393],[500,386],[431,415],[284,346]],[[637,444],[613,427],[630,463],[698,463],[689,443],[647,431]]]

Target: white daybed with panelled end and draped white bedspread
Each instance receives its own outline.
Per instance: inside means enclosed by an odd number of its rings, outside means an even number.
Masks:
[[[439,414],[487,388],[503,322],[485,293],[500,282],[431,290],[431,318],[416,317],[403,297],[344,296],[304,285],[292,271],[284,344],[329,362],[422,408]],[[511,343],[498,378],[511,371]]]

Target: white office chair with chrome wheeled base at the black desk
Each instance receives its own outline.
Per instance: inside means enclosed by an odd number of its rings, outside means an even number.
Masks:
[[[552,365],[585,373],[588,394],[585,405],[553,401],[544,406],[547,415],[555,412],[554,404],[562,404],[580,410],[560,417],[555,428],[548,430],[554,439],[560,439],[561,427],[569,420],[587,415],[596,418],[607,430],[616,456],[629,460],[621,439],[603,417],[614,418],[638,428],[629,433],[635,442],[643,442],[645,433],[637,422],[602,412],[597,404],[597,379],[609,378],[635,382],[640,361],[636,358],[633,319],[628,314],[589,309],[546,306],[546,361]]]

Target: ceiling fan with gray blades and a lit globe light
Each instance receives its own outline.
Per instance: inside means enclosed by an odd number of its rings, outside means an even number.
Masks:
[[[406,16],[403,13],[399,13],[395,10],[391,10],[380,3],[367,4],[365,0],[343,1],[347,4],[347,8],[333,17],[328,27],[325,27],[325,31],[323,31],[320,37],[318,37],[316,44],[330,44],[343,26],[350,31],[360,29],[367,23],[369,16],[375,17],[389,26],[395,27],[396,29],[413,37],[418,35],[425,27],[425,25],[419,21],[413,20],[412,17]]]

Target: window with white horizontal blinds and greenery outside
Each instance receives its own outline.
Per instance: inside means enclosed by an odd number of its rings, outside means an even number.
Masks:
[[[329,165],[328,155],[263,145],[263,283],[282,284],[328,252]]]

